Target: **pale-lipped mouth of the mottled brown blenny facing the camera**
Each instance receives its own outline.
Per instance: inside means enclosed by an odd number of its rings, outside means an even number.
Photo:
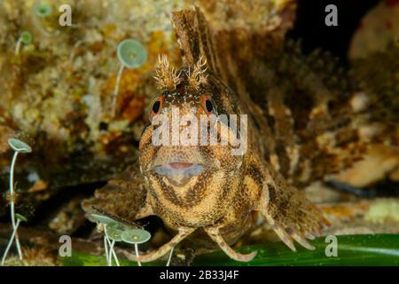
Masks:
[[[199,163],[168,162],[155,166],[153,171],[160,176],[168,177],[173,185],[184,185],[191,177],[200,176],[207,168]]]

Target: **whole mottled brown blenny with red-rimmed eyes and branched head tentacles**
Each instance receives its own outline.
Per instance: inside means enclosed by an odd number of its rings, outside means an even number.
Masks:
[[[303,59],[295,57],[295,45],[279,44],[250,67],[241,62],[247,73],[237,75],[233,62],[223,61],[231,59],[223,49],[229,41],[217,43],[199,9],[175,12],[172,22],[184,66],[170,67],[160,57],[160,92],[140,140],[139,165],[83,208],[89,217],[96,208],[132,222],[160,217],[174,237],[139,256],[143,262],[182,241],[250,261],[255,252],[239,254],[231,245],[260,216],[289,248],[296,241],[313,249],[307,240],[330,223],[297,187],[356,162],[388,126],[377,122],[373,135],[364,135],[370,101],[354,96],[335,65],[323,66],[317,53]],[[320,68],[328,70],[317,74]],[[209,135],[201,143],[203,131]]]

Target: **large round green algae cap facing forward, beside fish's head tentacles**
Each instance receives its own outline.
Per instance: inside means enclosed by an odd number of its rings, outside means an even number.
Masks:
[[[118,43],[116,53],[121,64],[128,68],[141,67],[147,60],[147,50],[145,46],[131,38]]]

